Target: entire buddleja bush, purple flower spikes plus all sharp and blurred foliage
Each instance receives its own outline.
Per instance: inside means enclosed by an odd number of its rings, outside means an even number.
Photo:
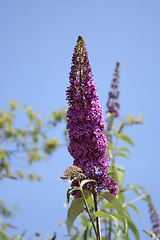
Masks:
[[[126,135],[126,127],[142,124],[142,116],[128,116],[119,119],[119,67],[116,64],[111,91],[107,101],[106,119],[103,118],[99,104],[96,84],[88,60],[85,42],[78,37],[72,58],[69,87],[67,88],[68,110],[53,111],[47,120],[42,120],[37,112],[27,105],[19,106],[15,101],[9,103],[8,110],[0,111],[0,178],[12,180],[28,177],[40,180],[31,172],[26,174],[11,164],[21,156],[31,165],[50,156],[61,146],[57,138],[50,138],[50,132],[62,120],[67,120],[64,130],[68,150],[73,157],[73,165],[68,167],[62,179],[70,179],[67,201],[70,204],[67,214],[68,236],[65,239],[140,239],[139,231],[132,220],[130,210],[140,215],[135,203],[144,200],[149,204],[152,230],[144,230],[154,239],[160,238],[160,220],[150,196],[142,186],[124,185],[125,169],[117,165],[117,158],[129,158],[134,147],[132,139]],[[26,126],[17,127],[19,112],[27,116]],[[116,121],[117,122],[117,121]],[[106,125],[106,127],[105,127]],[[120,143],[120,147],[119,146]],[[128,145],[128,147],[126,147]],[[110,167],[109,167],[110,166]],[[126,201],[126,193],[133,191],[135,198]],[[0,201],[0,239],[22,240],[19,236],[8,237],[6,230],[14,227],[1,219],[9,218],[5,202]],[[79,225],[74,222],[79,217]],[[129,231],[130,230],[130,231]],[[35,233],[33,239],[57,239]],[[32,239],[32,238],[30,238]]]

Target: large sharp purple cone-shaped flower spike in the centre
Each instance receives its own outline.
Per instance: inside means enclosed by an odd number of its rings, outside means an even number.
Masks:
[[[117,195],[118,186],[107,175],[109,159],[106,156],[105,122],[82,36],[78,37],[74,49],[69,83],[66,91],[68,150],[74,158],[73,165],[81,168],[87,178],[96,181],[97,192],[108,189]]]

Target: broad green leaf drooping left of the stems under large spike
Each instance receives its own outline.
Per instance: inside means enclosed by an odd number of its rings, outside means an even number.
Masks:
[[[73,227],[76,218],[83,212],[84,203],[82,198],[74,198],[67,214],[67,231],[70,235],[71,228]]]

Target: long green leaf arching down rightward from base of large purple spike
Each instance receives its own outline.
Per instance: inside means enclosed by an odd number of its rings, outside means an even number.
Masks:
[[[110,204],[114,207],[114,209],[119,213],[123,224],[124,224],[124,232],[127,233],[127,221],[125,218],[125,214],[123,211],[123,208],[121,206],[121,203],[109,192],[101,193],[102,197],[104,197]]]

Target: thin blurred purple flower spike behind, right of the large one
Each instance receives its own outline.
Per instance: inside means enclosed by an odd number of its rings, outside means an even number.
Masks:
[[[119,67],[120,63],[117,62],[116,68],[115,68],[115,73],[114,73],[114,78],[112,80],[111,88],[112,91],[109,92],[109,98],[107,102],[107,107],[109,113],[112,113],[114,117],[118,117],[119,113],[119,103],[118,103],[118,98],[119,98]]]

